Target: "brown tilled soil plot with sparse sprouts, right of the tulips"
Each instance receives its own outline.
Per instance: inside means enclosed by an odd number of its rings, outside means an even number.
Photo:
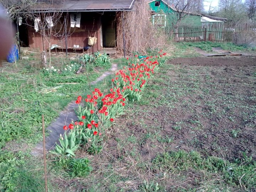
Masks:
[[[123,139],[136,137],[144,160],[179,149],[256,160],[255,57],[173,59],[163,71],[144,94],[158,96],[135,105],[120,130],[127,132]]]

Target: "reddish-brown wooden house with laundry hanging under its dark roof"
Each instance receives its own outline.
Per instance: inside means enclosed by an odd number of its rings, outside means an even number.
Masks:
[[[42,32],[37,24],[47,20],[47,25],[53,30],[63,28],[57,35],[44,39],[46,45],[62,50],[76,50],[85,53],[97,51],[112,53],[116,47],[116,16],[120,12],[132,11],[135,0],[65,0],[64,3],[33,6],[34,18],[22,19],[18,26],[20,41],[32,48],[44,49]],[[47,14],[47,13],[52,13]],[[25,12],[24,12],[25,14]],[[56,26],[52,19],[54,14],[60,14]],[[46,17],[46,15],[48,17]],[[26,21],[25,21],[26,20]],[[38,22],[38,23],[37,23]],[[52,25],[52,26],[51,26]],[[67,34],[68,33],[68,34]],[[96,37],[96,44],[88,44],[89,37]],[[48,43],[48,44],[47,44]]]

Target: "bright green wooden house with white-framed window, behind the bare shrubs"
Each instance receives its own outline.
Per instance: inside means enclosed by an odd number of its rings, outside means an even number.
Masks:
[[[150,0],[149,7],[154,26],[164,27],[166,31],[176,33],[176,38],[193,38],[195,41],[222,39],[226,18],[178,11],[174,5],[164,0]],[[191,37],[193,36],[193,37]]]

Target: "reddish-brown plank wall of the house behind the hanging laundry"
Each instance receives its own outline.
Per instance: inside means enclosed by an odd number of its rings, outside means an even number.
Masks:
[[[60,22],[64,23],[64,16],[67,13],[63,13],[60,18]],[[97,52],[101,49],[101,34],[100,34],[100,15],[92,12],[82,12],[81,20],[80,20],[80,28],[70,27],[70,15],[68,15],[67,21],[67,31],[70,36],[67,38],[68,48],[73,48],[74,45],[79,45],[79,47],[88,46],[88,37],[97,37],[97,43],[92,46],[87,53]],[[33,24],[34,25],[34,24]],[[32,25],[32,26],[33,26]],[[60,24],[59,24],[60,25]],[[32,48],[40,48],[42,50],[42,38],[40,32],[36,32],[34,27],[30,26],[28,28],[28,36],[29,36],[29,45]],[[54,27],[53,27],[54,28]],[[60,28],[58,25],[56,28]],[[58,29],[57,29],[58,31]],[[64,31],[62,34],[65,34]],[[47,41],[46,46],[48,45]],[[51,38],[51,44],[57,44],[58,46],[62,46],[65,49],[65,38],[54,37]],[[47,46],[48,47],[48,46]]]

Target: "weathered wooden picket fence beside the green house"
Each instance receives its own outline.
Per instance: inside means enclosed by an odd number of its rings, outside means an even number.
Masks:
[[[202,27],[178,27],[173,30],[173,36],[177,42],[246,42],[256,39],[256,25],[244,23],[228,27],[223,23],[209,23]]]

